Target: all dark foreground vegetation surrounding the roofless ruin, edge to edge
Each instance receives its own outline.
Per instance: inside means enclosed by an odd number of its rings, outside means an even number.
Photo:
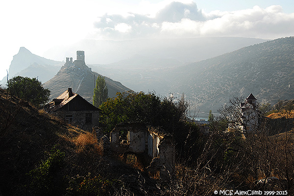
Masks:
[[[123,121],[160,125],[174,134],[177,163],[163,182],[149,177],[143,163],[127,164],[114,153],[102,156],[96,134],[1,89],[0,195],[209,196],[224,189],[294,193],[292,102],[275,108],[273,114],[281,118],[263,118],[258,129],[244,134],[228,132],[223,117],[196,125],[187,118],[187,107],[184,99],[173,103],[152,93],[120,94],[101,106],[105,134]]]

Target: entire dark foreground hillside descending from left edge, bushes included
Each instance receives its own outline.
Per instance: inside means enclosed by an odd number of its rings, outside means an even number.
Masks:
[[[3,196],[120,196],[125,187],[135,195],[152,195],[158,189],[143,173],[116,158],[101,157],[96,134],[6,96],[2,89],[0,141]]]

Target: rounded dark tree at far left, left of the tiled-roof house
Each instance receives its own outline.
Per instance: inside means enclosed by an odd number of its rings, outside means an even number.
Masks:
[[[11,96],[23,99],[35,106],[41,106],[49,100],[50,91],[45,89],[37,78],[15,76],[8,80]]]

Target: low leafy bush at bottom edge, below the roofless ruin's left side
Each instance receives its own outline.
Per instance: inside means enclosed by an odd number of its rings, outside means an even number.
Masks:
[[[86,177],[80,175],[72,177],[69,185],[67,196],[105,196],[112,188],[113,181],[100,175],[91,177],[91,173],[88,173]]]

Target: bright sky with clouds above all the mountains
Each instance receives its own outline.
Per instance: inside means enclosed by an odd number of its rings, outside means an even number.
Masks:
[[[82,39],[294,36],[292,0],[6,0],[0,79],[20,47],[45,58]],[[99,63],[99,62],[97,62]]]

